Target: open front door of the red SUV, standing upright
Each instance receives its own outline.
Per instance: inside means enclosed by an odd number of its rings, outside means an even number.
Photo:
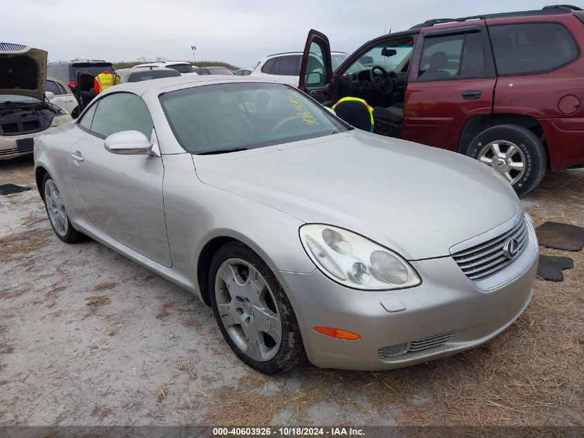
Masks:
[[[298,88],[326,107],[332,106],[330,44],[323,33],[311,29],[306,38]]]

